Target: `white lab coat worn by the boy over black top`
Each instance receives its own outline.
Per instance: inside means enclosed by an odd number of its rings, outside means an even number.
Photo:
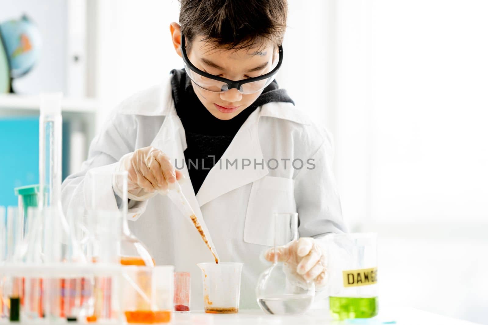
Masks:
[[[185,130],[176,114],[170,79],[115,109],[91,143],[82,170],[64,181],[63,208],[67,211],[87,204],[92,190],[87,173],[112,172],[124,154],[146,146],[161,149],[182,166]],[[345,230],[332,174],[332,150],[328,133],[293,104],[271,102],[248,117],[224,152],[223,167],[217,163],[209,171],[196,195],[191,182],[181,184],[221,261],[244,263],[241,308],[257,308],[256,282],[268,266],[260,254],[273,245],[273,212],[298,212],[300,237],[318,238]],[[226,159],[233,162],[236,158],[237,169],[235,165],[225,169]],[[248,162],[242,159],[249,159],[251,166],[243,167]],[[278,161],[277,168],[272,159]],[[281,159],[289,159],[286,166]],[[301,159],[304,167],[298,169],[296,161],[297,169],[293,168],[295,159]],[[312,167],[308,159],[313,159],[315,168],[306,168]],[[186,166],[182,172],[189,177]],[[109,181],[101,180],[97,191],[102,193],[99,202],[116,206]],[[130,201],[127,217],[132,220],[129,227],[149,248],[156,264],[172,264],[176,271],[191,272],[191,306],[202,308],[202,275],[196,264],[213,258],[193,225],[162,195]]]

